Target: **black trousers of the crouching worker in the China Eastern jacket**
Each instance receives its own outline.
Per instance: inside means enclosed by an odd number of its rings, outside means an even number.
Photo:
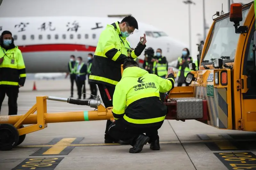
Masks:
[[[108,133],[111,137],[118,140],[123,140],[128,142],[130,145],[136,143],[136,139],[140,134],[146,133],[146,136],[149,137],[148,143],[152,141],[159,140],[157,130],[161,128],[164,121],[153,127],[135,127],[131,126],[124,122],[124,119],[118,119],[115,122],[111,123],[108,128]]]

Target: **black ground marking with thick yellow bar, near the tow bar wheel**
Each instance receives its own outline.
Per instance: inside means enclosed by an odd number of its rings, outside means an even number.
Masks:
[[[68,155],[84,138],[54,138],[48,147],[43,147],[30,156],[48,156],[48,155]]]

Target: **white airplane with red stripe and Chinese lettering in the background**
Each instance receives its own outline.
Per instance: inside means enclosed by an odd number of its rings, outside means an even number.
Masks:
[[[0,31],[12,32],[14,43],[22,52],[27,73],[67,72],[70,55],[94,53],[101,31],[120,18],[101,17],[9,17],[0,18]],[[168,62],[177,60],[187,45],[172,39],[160,29],[138,22],[139,29],[127,37],[135,48],[146,34],[147,47],[162,49]],[[139,56],[143,63],[144,52]]]

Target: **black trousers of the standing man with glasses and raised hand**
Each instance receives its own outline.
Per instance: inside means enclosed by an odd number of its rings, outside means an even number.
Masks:
[[[105,87],[108,89],[109,95],[111,97],[111,101],[108,100],[108,96],[104,90],[104,85],[102,84],[97,84],[99,91],[100,91],[100,96],[101,96],[101,100],[104,103],[105,107],[113,107],[113,95],[114,95],[114,91],[115,91],[115,86],[109,86],[109,85],[105,85]],[[111,141],[116,141],[114,140],[114,138],[112,138],[111,136],[109,136],[108,134],[108,127],[112,122],[110,120],[107,120],[107,124],[106,124],[106,130],[105,130],[105,139],[107,140],[111,140]]]

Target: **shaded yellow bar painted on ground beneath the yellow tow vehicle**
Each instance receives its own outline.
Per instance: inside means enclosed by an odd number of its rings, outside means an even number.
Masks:
[[[220,150],[225,150],[225,149],[237,149],[236,146],[234,146],[233,144],[231,144],[227,139],[225,139],[223,136],[221,135],[217,135],[217,134],[209,134],[207,135],[208,137],[210,137],[212,140],[222,140],[222,141],[216,141],[214,142],[215,144],[217,144],[217,146],[220,148]]]

